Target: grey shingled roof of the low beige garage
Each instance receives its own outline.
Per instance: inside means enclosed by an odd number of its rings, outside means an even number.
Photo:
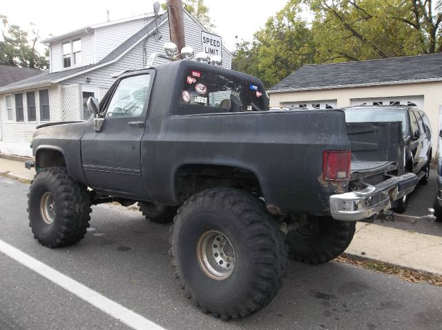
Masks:
[[[309,64],[281,80],[269,93],[406,84],[442,80],[442,53],[361,62]]]

